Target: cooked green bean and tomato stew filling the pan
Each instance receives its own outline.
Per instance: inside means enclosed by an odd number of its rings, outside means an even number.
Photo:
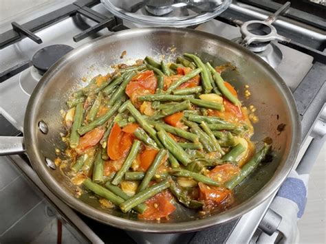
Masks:
[[[69,176],[105,208],[146,220],[169,219],[179,203],[226,210],[270,150],[254,153],[248,111],[221,67],[194,54],[175,62],[118,65],[67,101]]]

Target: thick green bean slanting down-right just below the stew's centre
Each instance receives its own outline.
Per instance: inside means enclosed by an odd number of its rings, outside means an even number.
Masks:
[[[162,127],[158,127],[160,130],[157,132],[160,141],[164,145],[166,149],[184,166],[186,166],[189,162],[191,162],[190,157],[186,154],[184,149],[177,144],[167,133],[162,129]]]

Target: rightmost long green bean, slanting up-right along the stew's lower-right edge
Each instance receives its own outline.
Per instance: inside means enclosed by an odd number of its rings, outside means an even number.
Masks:
[[[232,179],[226,182],[225,186],[226,188],[232,190],[236,186],[238,186],[243,179],[246,179],[248,175],[250,175],[257,166],[263,161],[263,159],[266,157],[268,152],[270,151],[270,145],[265,144],[261,150],[252,157],[249,162],[247,162],[242,168],[239,175],[236,175]]]

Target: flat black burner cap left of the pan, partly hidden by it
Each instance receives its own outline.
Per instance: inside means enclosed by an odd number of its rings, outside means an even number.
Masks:
[[[72,51],[73,47],[68,45],[50,45],[47,47],[43,47],[37,51],[33,58],[32,63],[36,69],[41,71],[42,74],[50,69],[56,61],[58,61],[62,56],[67,54],[68,52]]]

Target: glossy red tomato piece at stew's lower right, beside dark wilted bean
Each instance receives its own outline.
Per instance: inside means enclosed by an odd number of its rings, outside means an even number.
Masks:
[[[204,201],[203,210],[211,212],[216,208],[223,210],[234,202],[232,191],[224,187],[206,186],[202,182],[198,183],[199,199]]]

